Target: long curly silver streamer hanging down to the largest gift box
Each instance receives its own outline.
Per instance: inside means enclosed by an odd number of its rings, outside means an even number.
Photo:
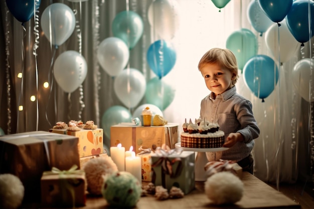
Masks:
[[[37,49],[39,44],[39,10],[36,10],[36,8],[39,6],[39,0],[34,0],[34,34],[35,34],[35,43],[33,46],[33,55],[35,56],[35,76],[36,76],[36,131],[38,131],[38,123],[39,123],[39,104],[38,104],[38,66],[37,66]]]

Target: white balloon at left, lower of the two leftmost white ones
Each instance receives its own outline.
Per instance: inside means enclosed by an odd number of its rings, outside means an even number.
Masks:
[[[60,54],[54,64],[54,77],[63,91],[72,93],[85,80],[87,64],[85,58],[76,51]]]

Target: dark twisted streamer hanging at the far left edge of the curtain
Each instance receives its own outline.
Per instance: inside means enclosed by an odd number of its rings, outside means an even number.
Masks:
[[[9,21],[9,10],[7,7],[5,7],[5,12],[6,12],[6,79],[7,79],[7,95],[8,95],[8,99],[7,99],[7,109],[8,109],[8,121],[7,121],[7,134],[11,134],[11,103],[12,103],[12,100],[11,100],[11,74],[10,74],[10,60],[9,60],[9,57],[10,57],[10,47],[9,47],[9,43],[10,43],[10,37],[9,37],[9,34],[10,34],[10,31],[9,31],[9,24],[11,23]],[[18,124],[19,124],[19,120],[18,121]]]

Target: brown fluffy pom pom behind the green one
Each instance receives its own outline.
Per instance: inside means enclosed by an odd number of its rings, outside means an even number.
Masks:
[[[90,159],[83,169],[87,181],[87,190],[93,195],[101,195],[103,175],[118,171],[117,165],[108,155]]]

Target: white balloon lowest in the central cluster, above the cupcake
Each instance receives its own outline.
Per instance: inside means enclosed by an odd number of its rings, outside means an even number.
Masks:
[[[114,92],[119,100],[128,108],[135,107],[143,98],[146,80],[141,72],[129,68],[122,70],[114,79]]]

